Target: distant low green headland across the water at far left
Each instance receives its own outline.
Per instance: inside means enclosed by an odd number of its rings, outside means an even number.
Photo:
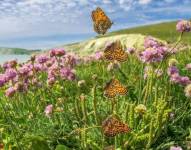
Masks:
[[[22,48],[0,48],[0,55],[31,55],[32,53],[38,53],[40,50],[27,50]]]

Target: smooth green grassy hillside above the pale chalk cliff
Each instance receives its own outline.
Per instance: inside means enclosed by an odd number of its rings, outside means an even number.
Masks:
[[[143,34],[143,35],[151,35],[156,38],[160,38],[162,40],[166,40],[168,42],[175,41],[178,36],[180,35],[176,31],[176,21],[175,22],[165,22],[165,23],[158,23],[153,25],[145,25],[140,27],[134,27],[129,29],[122,29],[119,31],[114,31],[111,33],[108,33],[105,35],[107,36],[113,36],[113,35],[119,35],[119,34]],[[185,33],[183,40],[186,43],[191,44],[191,33]]]

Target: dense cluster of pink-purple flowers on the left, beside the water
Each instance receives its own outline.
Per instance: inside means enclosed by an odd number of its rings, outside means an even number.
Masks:
[[[53,85],[59,78],[74,80],[74,67],[78,58],[66,54],[64,49],[53,49],[49,54],[32,56],[24,64],[10,61],[3,64],[4,73],[0,74],[0,86],[5,86],[5,95],[12,97],[16,92],[27,91],[30,85],[40,84],[40,74],[47,74],[48,85]]]

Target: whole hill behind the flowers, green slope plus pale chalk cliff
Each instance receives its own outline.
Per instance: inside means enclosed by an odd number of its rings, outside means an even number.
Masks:
[[[103,49],[107,42],[114,40],[121,40],[125,47],[140,47],[143,44],[144,37],[148,35],[163,41],[174,42],[179,37],[180,33],[176,31],[176,22],[165,22],[114,31],[104,36],[97,36],[90,40],[61,47],[64,47],[68,51],[86,55]],[[183,41],[187,44],[191,44],[191,33],[185,33]]]

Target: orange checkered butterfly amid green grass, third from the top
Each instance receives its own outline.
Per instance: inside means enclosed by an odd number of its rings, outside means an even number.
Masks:
[[[117,79],[111,79],[104,87],[104,95],[108,98],[114,98],[116,95],[126,95],[127,91],[127,87],[123,86]]]

